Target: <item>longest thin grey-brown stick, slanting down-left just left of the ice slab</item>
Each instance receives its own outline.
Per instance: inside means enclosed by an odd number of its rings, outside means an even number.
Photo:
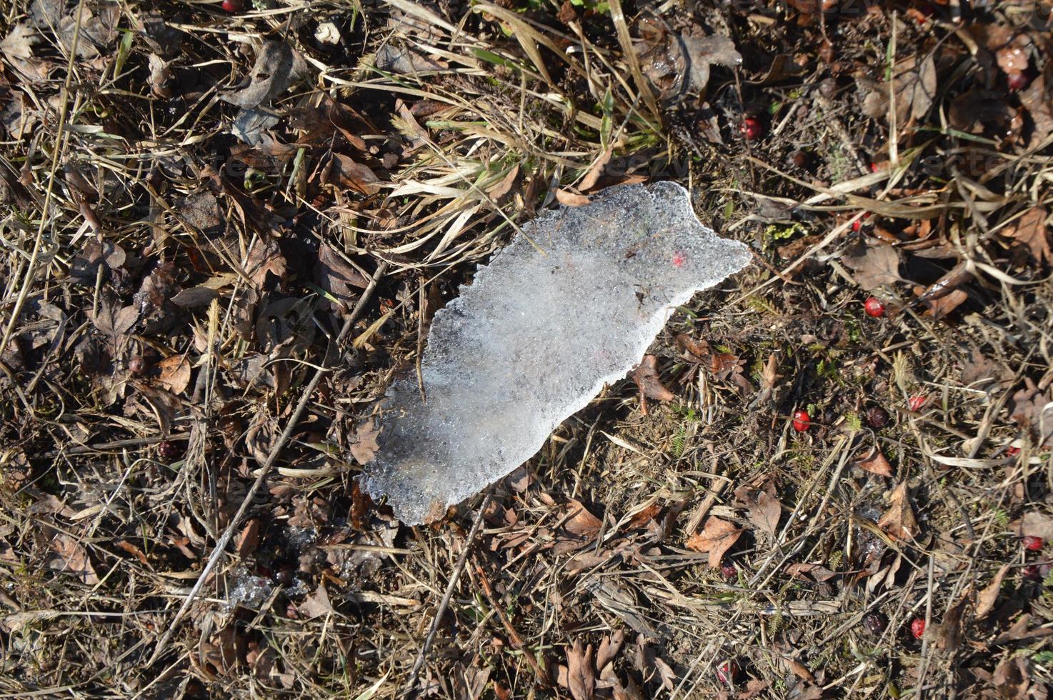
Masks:
[[[231,538],[234,536],[234,528],[241,522],[241,518],[244,517],[245,512],[249,509],[249,504],[252,502],[253,497],[256,496],[256,492],[258,492],[260,486],[263,485],[263,482],[266,481],[266,477],[271,473],[271,467],[274,466],[275,461],[278,459],[278,455],[285,446],[285,443],[289,442],[289,438],[293,435],[293,431],[296,429],[296,424],[299,422],[300,416],[306,408],[307,402],[311,401],[311,397],[314,395],[315,388],[318,386],[318,382],[321,381],[322,375],[329,372],[326,367],[331,356],[344,341],[347,334],[351,333],[351,328],[355,324],[355,321],[358,320],[358,317],[362,314],[362,309],[365,308],[365,303],[370,300],[370,297],[373,296],[374,289],[377,288],[377,282],[380,281],[380,278],[383,277],[386,271],[386,262],[381,262],[377,266],[377,272],[374,273],[369,286],[366,286],[365,291],[362,292],[362,296],[359,297],[358,303],[355,304],[355,308],[343,322],[343,327],[340,328],[340,334],[326,348],[325,357],[322,358],[321,366],[318,367],[314,377],[312,377],[311,381],[307,382],[306,387],[303,389],[303,394],[300,396],[299,403],[296,404],[296,411],[293,412],[292,417],[289,419],[289,423],[285,424],[285,429],[282,432],[281,437],[278,438],[278,442],[275,443],[274,447],[271,449],[271,454],[267,455],[266,461],[263,463],[259,475],[256,477],[256,481],[254,481],[253,485],[250,486],[249,492],[241,501],[241,505],[238,506],[238,512],[234,514],[233,518],[231,518],[231,523],[226,526],[226,529],[223,531],[223,535],[216,542],[216,546],[212,551],[212,555],[208,557],[208,562],[204,565],[204,568],[201,569],[201,574],[194,583],[194,587],[191,588],[191,592],[187,594],[183,604],[179,607],[179,612],[176,613],[176,617],[172,620],[172,623],[164,631],[161,639],[157,642],[157,646],[154,648],[154,654],[150,657],[150,661],[146,662],[147,666],[153,665],[154,662],[157,661],[158,657],[160,657],[164,652],[165,647],[168,645],[168,640],[172,638],[173,632],[175,632],[176,627],[179,626],[183,616],[186,615],[186,611],[190,608],[191,603],[194,602],[194,599],[201,591],[201,586],[204,585],[204,581],[212,573],[212,569],[216,567],[217,562],[219,562],[219,558],[223,555],[223,552],[226,549],[226,545],[230,544]]]

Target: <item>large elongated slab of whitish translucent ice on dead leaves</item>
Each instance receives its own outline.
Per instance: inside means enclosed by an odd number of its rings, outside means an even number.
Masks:
[[[435,315],[426,401],[414,373],[388,392],[362,484],[404,523],[442,516],[530,459],[639,363],[674,306],[751,259],[672,182],[610,187],[523,231]]]

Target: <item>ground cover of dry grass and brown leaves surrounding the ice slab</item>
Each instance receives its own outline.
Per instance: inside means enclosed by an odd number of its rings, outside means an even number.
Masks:
[[[940,55],[926,128],[892,146],[895,104],[863,116],[847,67],[822,87],[824,33],[837,61],[893,76],[934,37],[966,41],[945,15],[664,3],[667,29],[746,57],[703,102],[644,77],[642,3],[574,22],[526,4],[172,3],[170,33],[125,2],[61,29],[5,8],[4,36],[39,40],[2,85],[0,693],[394,698],[435,624],[410,688],[429,697],[582,697],[590,676],[616,698],[1045,697],[1049,549],[1021,548],[1018,521],[1049,526],[1053,462],[1019,409],[1030,387],[1049,400],[1053,288],[1012,235],[1049,205],[1053,137],[950,125],[990,68],[968,52]],[[117,32],[96,42],[93,18]],[[263,39],[310,79],[274,99],[278,141],[246,147],[220,97]],[[807,69],[763,81],[776,53]],[[656,340],[676,399],[644,415],[631,381],[609,387],[492,488],[474,541],[478,499],[414,528],[367,503],[356,425],[429,313],[518,222],[632,178],[683,182],[757,253]],[[931,240],[905,233],[922,220]],[[881,237],[902,279],[872,318],[873,271],[848,254]],[[892,477],[859,466],[874,448]],[[910,537],[882,518],[899,484]],[[768,528],[743,500],[766,487]],[[688,545],[711,517],[743,529],[724,569]]]

